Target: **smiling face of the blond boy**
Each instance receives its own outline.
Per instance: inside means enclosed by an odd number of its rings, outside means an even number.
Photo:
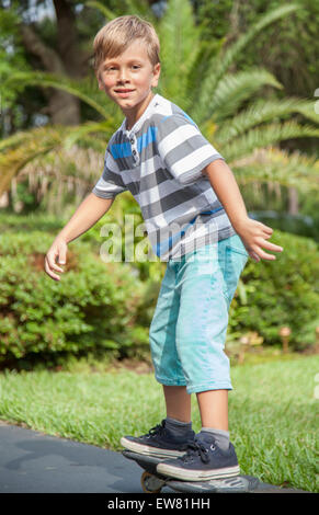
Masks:
[[[96,73],[99,89],[130,119],[148,104],[159,76],[160,64],[152,66],[145,44],[138,39],[119,56],[106,58]]]

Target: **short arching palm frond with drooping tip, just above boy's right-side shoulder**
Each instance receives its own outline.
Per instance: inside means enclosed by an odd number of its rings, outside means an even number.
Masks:
[[[228,73],[219,81],[216,90],[212,90],[205,110],[195,104],[195,112],[192,112],[192,115],[197,123],[213,118],[218,124],[233,115],[242,102],[250,99],[263,85],[283,88],[273,73],[262,68]]]

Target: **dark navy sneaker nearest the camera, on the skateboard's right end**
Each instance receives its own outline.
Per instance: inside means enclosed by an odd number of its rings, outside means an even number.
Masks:
[[[183,457],[160,462],[157,472],[183,481],[208,481],[238,476],[239,466],[231,443],[223,450],[213,436],[198,434]]]

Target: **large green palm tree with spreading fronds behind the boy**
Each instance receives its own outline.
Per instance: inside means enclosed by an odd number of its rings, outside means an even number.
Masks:
[[[115,16],[99,2],[89,3],[103,10],[106,19]],[[316,157],[298,151],[288,153],[277,146],[285,139],[319,137],[315,101],[261,99],[262,88],[283,88],[272,73],[263,68],[229,71],[240,53],[266,25],[289,15],[300,5],[287,4],[266,12],[232,44],[226,45],[221,41],[207,46],[201,41],[202,26],[195,25],[189,0],[170,0],[159,21],[145,3],[138,2],[137,7],[130,1],[129,4],[129,12],[148,18],[160,36],[162,73],[158,92],[187,112],[240,182],[258,180],[318,190],[319,161]],[[102,121],[76,127],[45,126],[2,140],[0,196],[27,163],[45,160],[52,152],[66,152],[77,146],[104,153],[105,141],[123,119],[116,106],[98,90],[95,78],[79,83],[48,73],[16,72],[10,81],[62,89],[91,105]],[[306,119],[299,122],[294,115]]]

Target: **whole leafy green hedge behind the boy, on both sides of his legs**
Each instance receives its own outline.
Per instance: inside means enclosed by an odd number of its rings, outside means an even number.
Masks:
[[[69,244],[66,272],[57,283],[43,268],[58,232],[50,224],[32,230],[30,220],[12,218],[0,237],[0,365],[39,359],[49,366],[91,352],[148,355],[164,264],[104,263],[95,226]],[[249,260],[230,307],[227,337],[257,331],[264,344],[274,345],[281,343],[280,328],[288,325],[289,346],[300,350],[315,343],[319,325],[318,245],[277,230],[271,241],[284,252],[275,262]]]

